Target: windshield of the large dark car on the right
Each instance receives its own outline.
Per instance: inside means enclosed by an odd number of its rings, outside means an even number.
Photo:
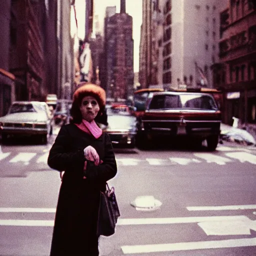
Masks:
[[[186,108],[201,110],[217,110],[212,96],[204,94],[155,95],[149,109]]]

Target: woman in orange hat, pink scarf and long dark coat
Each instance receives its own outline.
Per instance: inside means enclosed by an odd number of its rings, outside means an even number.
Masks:
[[[72,123],[60,128],[48,156],[51,168],[64,170],[50,256],[98,255],[100,190],[117,171],[110,138],[94,121],[104,109],[105,91],[80,85],[73,94]]]

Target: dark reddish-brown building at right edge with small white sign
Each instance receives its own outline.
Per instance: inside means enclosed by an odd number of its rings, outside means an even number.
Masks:
[[[256,123],[256,2],[229,0],[220,13],[214,86],[223,90],[223,121]]]

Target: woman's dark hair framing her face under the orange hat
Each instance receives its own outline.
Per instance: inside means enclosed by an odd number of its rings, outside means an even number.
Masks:
[[[70,119],[70,122],[72,123],[80,123],[82,121],[82,115],[81,115],[81,111],[80,111],[80,105],[81,105],[81,102],[82,102],[82,98],[84,96],[92,96],[94,97],[98,104],[99,104],[99,111],[96,115],[96,117],[94,118],[95,121],[96,119],[99,118],[99,116],[102,114],[102,112],[104,111],[104,106],[103,105],[100,105],[100,99],[98,97],[97,94],[94,94],[92,92],[81,92],[78,94],[76,100],[73,101],[72,103],[72,107],[71,107],[71,110],[70,110],[70,115],[71,115],[71,119]]]

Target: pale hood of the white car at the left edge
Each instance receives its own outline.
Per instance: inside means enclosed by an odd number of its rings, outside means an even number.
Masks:
[[[1,122],[45,122],[46,119],[46,114],[43,112],[11,113],[0,117]]]

